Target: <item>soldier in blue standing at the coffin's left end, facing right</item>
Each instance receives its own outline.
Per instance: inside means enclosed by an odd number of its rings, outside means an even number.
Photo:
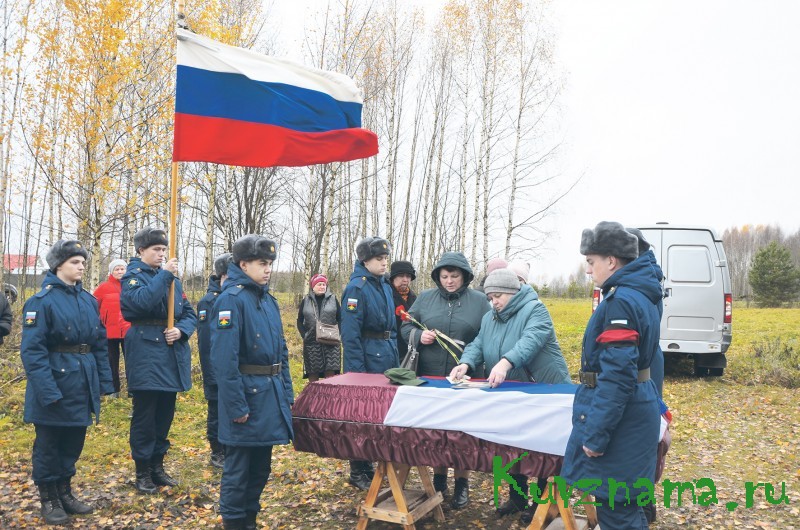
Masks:
[[[272,446],[293,437],[289,350],[269,292],[275,243],[247,235],[233,244],[228,279],[209,319],[211,366],[219,388],[225,446],[219,508],[227,529],[255,529]]]

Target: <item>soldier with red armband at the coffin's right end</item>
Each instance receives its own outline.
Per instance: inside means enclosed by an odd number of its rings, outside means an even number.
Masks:
[[[638,240],[619,223],[584,230],[581,254],[603,301],[583,336],[581,385],[561,476],[571,484],[602,477],[594,490],[600,526],[642,530],[648,528],[645,513],[629,499],[644,490],[615,491],[609,482],[655,481],[660,408],[650,366],[661,328],[660,278],[648,260],[637,259]]]

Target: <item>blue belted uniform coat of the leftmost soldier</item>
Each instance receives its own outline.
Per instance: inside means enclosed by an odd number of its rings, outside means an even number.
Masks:
[[[87,354],[59,351],[59,345],[88,344]],[[42,290],[22,309],[22,364],[26,423],[85,427],[92,413],[100,421],[100,394],[111,394],[106,329],[97,300],[80,282],[67,285],[48,272]]]

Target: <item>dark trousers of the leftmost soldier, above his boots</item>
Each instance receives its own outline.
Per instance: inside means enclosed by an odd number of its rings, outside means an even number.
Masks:
[[[33,482],[53,482],[75,475],[75,462],[83,452],[86,427],[55,427],[35,424]]]

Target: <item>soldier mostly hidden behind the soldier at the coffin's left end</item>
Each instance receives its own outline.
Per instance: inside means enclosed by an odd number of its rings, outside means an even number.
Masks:
[[[217,380],[214,370],[211,369],[211,336],[208,323],[214,302],[217,301],[222,285],[228,278],[228,264],[231,261],[230,252],[214,260],[214,274],[208,279],[206,295],[197,303],[197,347],[200,350],[200,369],[203,372],[203,395],[208,401],[208,414],[206,416],[206,436],[211,446],[211,465],[222,468],[225,461],[225,448],[219,443],[217,437],[219,414],[217,412]]]

